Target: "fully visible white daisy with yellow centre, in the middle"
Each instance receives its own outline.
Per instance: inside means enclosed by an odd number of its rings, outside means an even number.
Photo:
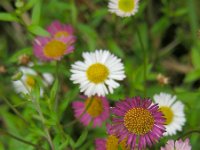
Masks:
[[[83,53],[84,61],[77,61],[72,65],[71,80],[80,84],[81,92],[87,96],[105,96],[113,93],[119,87],[115,80],[125,78],[124,65],[107,50]]]

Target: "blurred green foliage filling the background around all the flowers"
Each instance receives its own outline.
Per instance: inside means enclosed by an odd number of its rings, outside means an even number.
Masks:
[[[177,139],[190,131],[194,131],[187,135],[193,149],[200,149],[197,134],[200,132],[200,1],[141,0],[139,12],[129,18],[109,13],[107,5],[108,0],[0,1],[0,65],[7,70],[0,75],[0,149],[50,149],[44,126],[51,134],[55,149],[94,149],[94,139],[106,136],[105,124],[96,129],[84,128],[78,122],[68,124],[74,120],[71,102],[79,99],[78,86],[69,80],[70,65],[82,59],[82,52],[95,49],[108,49],[125,64],[127,78],[114,94],[108,96],[111,105],[125,97],[144,96],[144,85],[147,97],[169,92],[185,104],[187,122],[183,131],[163,138],[152,149],[158,149],[169,138]],[[41,64],[32,51],[35,36],[47,36],[45,27],[54,20],[73,25],[77,37],[75,51],[59,63],[59,80],[45,89],[44,98],[38,94],[40,82],[32,96],[22,98],[16,94],[11,82],[20,66],[20,55],[30,56],[37,72],[55,75],[56,62]],[[144,51],[137,32],[147,53],[145,83]],[[170,78],[168,85],[158,84],[159,73]],[[58,103],[55,106],[56,97]],[[40,104],[44,120],[31,99]]]

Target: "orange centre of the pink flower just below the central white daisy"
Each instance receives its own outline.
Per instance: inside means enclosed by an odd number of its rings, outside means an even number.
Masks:
[[[90,106],[88,106],[90,105]],[[87,108],[87,113],[92,117],[99,116],[103,111],[102,100],[99,97],[91,97],[85,101],[85,108]]]

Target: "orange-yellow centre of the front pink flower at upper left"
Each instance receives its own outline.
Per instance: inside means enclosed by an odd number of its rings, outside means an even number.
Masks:
[[[57,58],[62,56],[65,50],[66,50],[65,43],[58,40],[52,40],[45,45],[44,55],[49,58]]]

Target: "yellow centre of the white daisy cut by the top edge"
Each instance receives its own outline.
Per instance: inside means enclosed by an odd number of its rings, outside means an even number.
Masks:
[[[134,0],[119,0],[118,7],[124,12],[131,12],[134,7]]]

